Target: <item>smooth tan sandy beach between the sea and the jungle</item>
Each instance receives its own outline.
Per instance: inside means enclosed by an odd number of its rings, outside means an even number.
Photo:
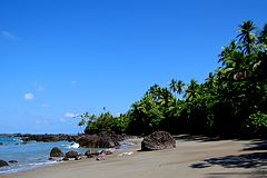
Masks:
[[[207,140],[179,137],[175,149],[138,151],[137,145],[116,151],[106,160],[69,161],[1,178],[263,178],[267,152],[260,140]]]

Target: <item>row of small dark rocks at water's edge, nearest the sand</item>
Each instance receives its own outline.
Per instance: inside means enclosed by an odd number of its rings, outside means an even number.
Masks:
[[[101,150],[99,152],[91,152],[91,150],[86,151],[85,154],[78,154],[77,151],[70,150],[63,154],[58,147],[55,147],[50,151],[49,160],[80,160],[87,158],[95,158],[97,160],[105,160],[106,155],[110,155],[112,151],[110,150]]]

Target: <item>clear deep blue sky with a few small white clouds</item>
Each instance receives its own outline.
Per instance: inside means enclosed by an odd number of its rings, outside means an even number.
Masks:
[[[0,0],[0,132],[76,134],[149,87],[202,82],[266,0]]]

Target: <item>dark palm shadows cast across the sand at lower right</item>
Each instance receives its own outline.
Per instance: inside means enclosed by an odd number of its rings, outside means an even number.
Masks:
[[[251,169],[249,172],[215,172],[209,174],[209,178],[226,178],[230,176],[264,178],[267,177],[267,140],[251,140],[245,146],[238,156],[225,156],[217,158],[205,159],[201,162],[192,164],[194,169],[202,169],[212,166],[221,166],[224,168],[244,168]],[[250,151],[249,154],[245,154]],[[251,152],[253,151],[253,152]]]

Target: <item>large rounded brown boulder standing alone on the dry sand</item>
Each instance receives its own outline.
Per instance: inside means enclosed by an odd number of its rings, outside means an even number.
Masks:
[[[156,131],[141,141],[142,151],[161,150],[176,147],[176,140],[166,131]]]

